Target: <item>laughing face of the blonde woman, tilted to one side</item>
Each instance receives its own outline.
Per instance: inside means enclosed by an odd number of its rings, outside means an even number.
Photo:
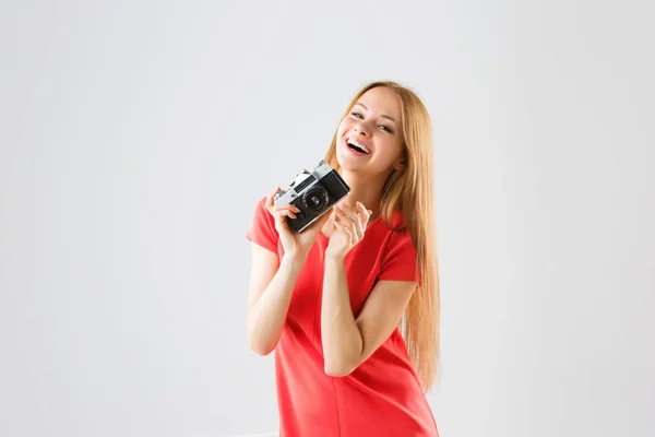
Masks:
[[[359,97],[338,126],[336,158],[350,172],[378,175],[402,168],[401,101],[393,90],[378,86]]]

